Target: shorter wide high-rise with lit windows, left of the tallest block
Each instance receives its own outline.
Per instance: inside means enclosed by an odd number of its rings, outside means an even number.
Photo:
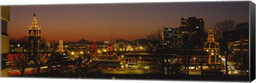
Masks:
[[[178,28],[164,28],[163,30],[163,45],[177,47],[179,43],[179,35],[181,34],[181,29]]]

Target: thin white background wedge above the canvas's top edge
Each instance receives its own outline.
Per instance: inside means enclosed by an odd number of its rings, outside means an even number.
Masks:
[[[45,0],[1,0],[1,5],[31,5],[31,4],[89,4],[89,3],[152,3],[152,2],[218,2],[218,1],[230,1],[230,0],[53,0],[53,1],[45,1]],[[248,1],[248,0],[231,0],[231,1]],[[255,1],[255,0],[253,0]]]

